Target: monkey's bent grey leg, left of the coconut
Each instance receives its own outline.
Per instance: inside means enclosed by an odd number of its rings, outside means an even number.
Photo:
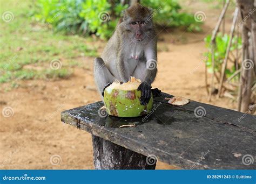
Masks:
[[[102,58],[95,59],[94,76],[100,94],[104,92],[107,84],[113,82],[113,80],[115,79],[114,76],[110,73],[109,69],[106,67]]]

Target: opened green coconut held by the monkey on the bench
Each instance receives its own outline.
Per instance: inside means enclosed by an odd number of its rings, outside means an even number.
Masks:
[[[137,90],[140,80],[131,77],[131,79],[121,84],[113,82],[104,90],[104,103],[109,115],[118,117],[137,117],[148,114],[152,110],[153,95],[149,103],[140,104],[139,98],[142,92]]]

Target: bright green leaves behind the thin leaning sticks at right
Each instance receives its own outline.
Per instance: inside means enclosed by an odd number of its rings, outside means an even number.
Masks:
[[[240,49],[242,47],[242,40],[241,38],[237,38],[236,36],[233,37],[232,39],[232,44],[231,44],[231,48],[230,51],[234,51],[234,49],[237,47],[236,46],[236,40],[238,39],[238,48]],[[226,49],[227,49],[227,45],[228,45],[228,41],[230,40],[230,36],[228,36],[227,34],[223,34],[222,33],[218,33],[217,37],[216,37],[216,48],[214,50],[214,61],[215,61],[215,72],[220,72],[221,71],[221,65],[225,59],[225,54],[226,54]],[[208,68],[209,72],[213,72],[212,71],[212,54],[211,54],[211,35],[208,35],[205,38],[205,43],[206,43],[206,47],[208,49],[208,52],[204,53],[204,55],[206,56],[206,66]],[[230,76],[235,72],[235,68],[226,68],[226,75]]]

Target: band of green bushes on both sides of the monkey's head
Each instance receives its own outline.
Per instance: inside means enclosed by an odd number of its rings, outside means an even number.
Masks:
[[[117,25],[118,17],[128,5],[113,0],[38,0],[38,10],[35,13],[37,20],[52,27],[55,31],[72,34],[83,34],[106,39],[111,37]],[[158,25],[179,27],[183,26],[188,31],[200,31],[200,24],[193,15],[182,12],[176,0],[153,1],[143,0],[142,4],[154,10],[153,19]]]

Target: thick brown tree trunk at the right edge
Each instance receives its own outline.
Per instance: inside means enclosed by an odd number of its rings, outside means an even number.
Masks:
[[[238,94],[238,110],[247,112],[252,95],[252,84],[255,80],[256,55],[256,15],[254,0],[237,0],[242,17],[242,62]],[[254,97],[253,97],[254,98]]]

